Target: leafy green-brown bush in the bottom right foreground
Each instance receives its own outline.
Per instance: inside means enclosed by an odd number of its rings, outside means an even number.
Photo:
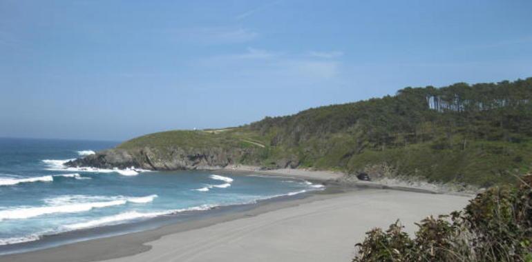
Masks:
[[[353,262],[532,261],[532,176],[478,194],[463,211],[429,216],[414,239],[396,221],[357,243]]]

